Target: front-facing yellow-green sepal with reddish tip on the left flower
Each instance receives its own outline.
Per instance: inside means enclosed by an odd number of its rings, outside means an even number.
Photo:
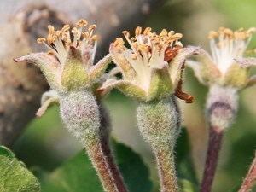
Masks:
[[[61,74],[61,85],[67,90],[80,90],[88,83],[87,81],[88,74],[83,64],[81,51],[71,47],[67,52],[67,61]]]

